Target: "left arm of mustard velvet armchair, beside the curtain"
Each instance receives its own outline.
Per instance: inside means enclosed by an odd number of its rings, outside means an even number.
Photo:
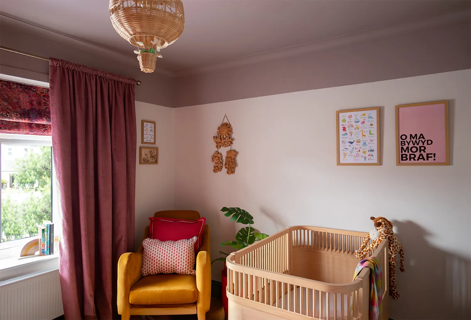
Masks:
[[[118,313],[129,314],[129,290],[141,279],[142,252],[127,252],[118,261]]]

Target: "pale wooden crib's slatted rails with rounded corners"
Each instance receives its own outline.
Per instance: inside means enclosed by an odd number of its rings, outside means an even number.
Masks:
[[[293,250],[322,251],[347,255],[353,259],[364,237],[364,232],[310,226],[281,230],[227,257],[227,295],[237,304],[272,315],[268,317],[368,319],[368,268],[363,269],[354,281],[337,284],[295,276],[291,266]],[[383,241],[374,256],[382,264],[382,295],[386,299],[387,254],[387,241]],[[351,271],[353,276],[353,269]],[[239,318],[244,317],[241,314],[236,316],[235,312],[231,316],[229,312],[229,319]],[[388,319],[387,306],[380,319]]]

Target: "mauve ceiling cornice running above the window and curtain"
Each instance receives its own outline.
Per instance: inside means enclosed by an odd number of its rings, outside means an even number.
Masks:
[[[89,43],[87,41],[83,41],[77,38],[73,38],[69,35],[58,33],[56,31],[52,31],[38,25],[33,25],[29,22],[25,22],[11,16],[0,14],[0,26],[2,28],[8,29],[14,32],[23,33],[30,37],[52,42],[63,47],[67,47],[74,50],[85,51],[89,54],[93,54],[98,57],[102,57],[104,59],[113,60],[115,62],[124,63],[130,66],[136,66],[137,68],[139,67],[138,61],[135,57],[126,56],[126,55],[123,55],[122,53],[119,53],[110,49],[106,49],[106,48],[97,46],[96,44]],[[33,53],[33,52],[30,52],[30,53]],[[61,58],[61,57],[57,57],[57,58]],[[155,68],[154,72],[156,74],[162,74],[168,77],[174,77],[173,73],[166,70]]]

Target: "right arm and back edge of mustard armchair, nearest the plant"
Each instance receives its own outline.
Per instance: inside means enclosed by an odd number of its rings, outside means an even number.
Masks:
[[[204,226],[201,250],[196,256],[196,289],[198,290],[196,301],[198,314],[208,312],[211,304],[211,254],[208,225]]]

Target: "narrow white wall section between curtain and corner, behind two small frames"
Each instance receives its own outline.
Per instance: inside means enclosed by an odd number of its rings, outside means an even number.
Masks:
[[[174,207],[174,109],[136,101],[137,155],[140,146],[159,148],[158,164],[139,164],[136,157],[136,232],[137,249],[149,225],[149,217]],[[155,145],[141,144],[141,120],[155,121]]]

